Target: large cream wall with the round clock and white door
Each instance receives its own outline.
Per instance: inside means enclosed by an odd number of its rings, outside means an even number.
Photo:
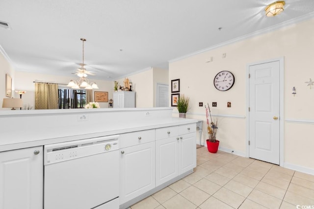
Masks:
[[[305,84],[314,79],[313,25],[314,19],[171,62],[169,85],[180,78],[180,93],[190,97],[190,118],[205,122],[205,108],[198,107],[198,102],[209,102],[210,106],[217,102],[211,110],[218,117],[221,147],[245,155],[247,64],[284,57],[284,162],[288,167],[314,173],[314,87]],[[210,57],[213,61],[207,62]],[[234,87],[226,92],[213,86],[213,77],[221,70],[235,75]],[[296,88],[295,96],[292,87]],[[227,108],[228,101],[231,108]]]

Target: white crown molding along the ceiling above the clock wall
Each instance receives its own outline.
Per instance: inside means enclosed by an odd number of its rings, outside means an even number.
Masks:
[[[177,62],[179,60],[182,60],[182,59],[185,59],[185,58],[197,55],[197,54],[201,54],[203,52],[207,52],[207,51],[210,51],[210,50],[215,49],[215,48],[219,48],[219,47],[222,47],[222,46],[227,46],[227,45],[230,45],[230,44],[234,44],[236,42],[243,41],[245,39],[249,39],[249,38],[252,38],[252,37],[255,37],[255,36],[258,36],[258,35],[262,35],[262,34],[265,34],[265,33],[268,33],[268,32],[275,31],[275,30],[279,30],[281,28],[288,27],[288,26],[290,26],[292,24],[301,23],[303,21],[307,21],[307,20],[310,20],[310,19],[314,19],[314,12],[308,13],[306,15],[300,16],[298,18],[294,18],[292,20],[289,20],[289,21],[286,21],[286,22],[283,22],[283,23],[279,23],[279,24],[276,24],[276,25],[273,25],[273,26],[270,26],[270,27],[263,28],[261,30],[254,31],[252,33],[246,34],[244,36],[237,37],[235,39],[231,39],[231,40],[226,41],[226,42],[222,42],[222,43],[217,44],[217,45],[213,45],[213,46],[210,46],[210,47],[207,47],[207,48],[204,48],[204,49],[201,49],[201,50],[198,50],[198,51],[195,51],[195,52],[183,55],[181,57],[174,58],[172,60],[169,60],[168,62],[169,63]]]

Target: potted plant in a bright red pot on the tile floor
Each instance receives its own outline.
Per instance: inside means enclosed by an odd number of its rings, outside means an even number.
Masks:
[[[218,129],[217,127],[218,120],[216,119],[216,122],[212,121],[208,103],[207,103],[207,106],[205,105],[205,108],[206,108],[207,132],[209,136],[209,139],[206,139],[207,149],[210,153],[216,153],[219,147],[219,140],[216,139],[216,134],[217,134],[217,129]],[[210,117],[210,123],[209,123],[209,117]]]

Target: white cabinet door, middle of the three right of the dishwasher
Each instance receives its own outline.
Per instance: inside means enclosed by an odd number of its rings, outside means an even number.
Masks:
[[[179,175],[179,137],[156,141],[156,186]]]

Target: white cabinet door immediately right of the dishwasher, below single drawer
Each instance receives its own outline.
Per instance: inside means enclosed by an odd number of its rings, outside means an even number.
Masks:
[[[120,149],[120,205],[155,188],[155,142]]]

